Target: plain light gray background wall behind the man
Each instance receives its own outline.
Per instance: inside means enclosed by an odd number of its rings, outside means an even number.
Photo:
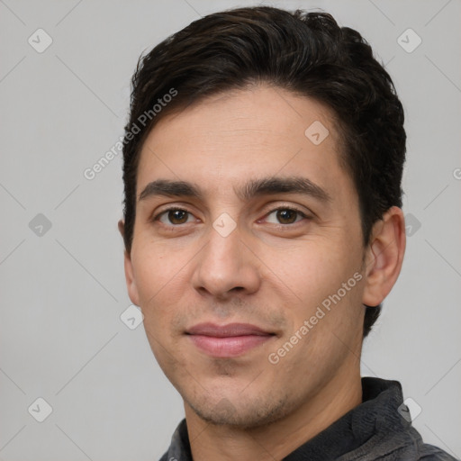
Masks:
[[[406,109],[402,275],[366,340],[363,375],[402,382],[423,437],[461,456],[461,2],[287,1],[356,28]],[[122,158],[92,167],[122,136],[140,52],[199,15],[257,2],[0,0],[2,210],[0,460],[154,460],[183,417],[150,352],[122,267]],[[28,43],[52,38],[38,53]],[[411,28],[411,53],[397,42]],[[414,39],[405,39],[412,41]],[[37,41],[37,39],[35,39]],[[43,41],[41,41],[43,43]],[[43,235],[29,223],[51,222]],[[415,231],[416,230],[416,231]],[[38,397],[52,413],[34,420]]]

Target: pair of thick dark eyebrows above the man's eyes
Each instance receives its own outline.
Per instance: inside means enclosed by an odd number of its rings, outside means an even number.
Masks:
[[[234,189],[235,190],[235,189]],[[318,199],[321,202],[331,202],[331,196],[320,185],[312,183],[303,176],[263,177],[250,179],[235,191],[240,200],[249,202],[254,197],[270,194],[303,194]],[[171,181],[157,179],[150,182],[140,193],[139,201],[163,195],[167,197],[190,197],[203,200],[203,193],[193,183],[186,181]]]

